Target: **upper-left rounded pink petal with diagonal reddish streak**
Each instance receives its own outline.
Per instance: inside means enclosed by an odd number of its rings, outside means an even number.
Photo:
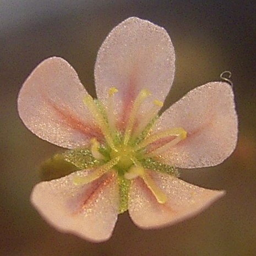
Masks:
[[[19,92],[20,118],[32,133],[63,148],[77,148],[100,137],[83,104],[88,92],[62,58],[48,58],[35,68]]]

